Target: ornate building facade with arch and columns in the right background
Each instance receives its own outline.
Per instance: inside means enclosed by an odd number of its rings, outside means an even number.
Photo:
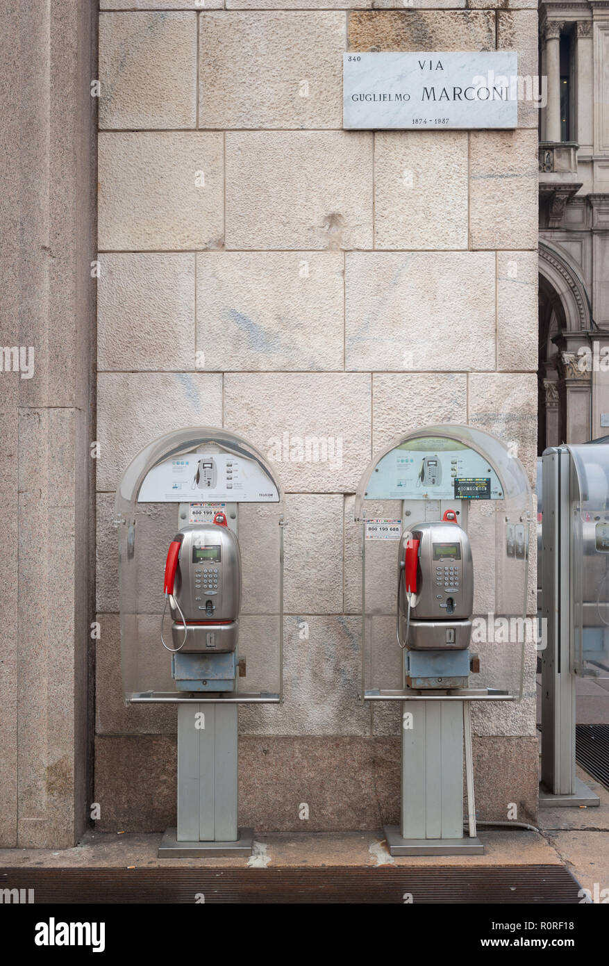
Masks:
[[[540,452],[607,435],[609,7],[540,5]]]

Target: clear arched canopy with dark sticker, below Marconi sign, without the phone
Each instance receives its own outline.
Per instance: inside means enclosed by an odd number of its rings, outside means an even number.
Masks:
[[[429,473],[426,462],[442,464]],[[520,699],[525,655],[535,668],[535,587],[529,587],[533,499],[513,445],[474,426],[426,426],[374,455],[355,495],[362,558],[364,700],[428,696],[410,691],[396,642],[400,534],[457,511],[474,561],[470,653],[480,671],[450,696]],[[527,618],[526,615],[531,617]]]

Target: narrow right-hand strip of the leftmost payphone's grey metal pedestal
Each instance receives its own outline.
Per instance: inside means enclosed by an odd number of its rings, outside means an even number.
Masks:
[[[215,706],[215,834],[235,841],[237,831],[237,714],[235,704]],[[201,837],[203,838],[203,836]]]

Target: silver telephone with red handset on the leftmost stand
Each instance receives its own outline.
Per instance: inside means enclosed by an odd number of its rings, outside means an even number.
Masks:
[[[224,513],[183,526],[165,563],[165,609],[172,617],[172,673],[182,691],[233,691],[241,607],[241,554]]]

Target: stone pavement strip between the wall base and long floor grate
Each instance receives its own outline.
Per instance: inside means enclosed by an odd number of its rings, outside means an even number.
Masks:
[[[249,859],[158,859],[160,834],[88,832],[63,851],[0,849],[0,867],[434,867],[565,865],[582,887],[609,890],[609,792],[581,769],[600,796],[595,809],[541,809],[540,832],[480,828],[482,856],[392,858],[381,833],[261,833]],[[607,894],[609,895],[609,893]]]

